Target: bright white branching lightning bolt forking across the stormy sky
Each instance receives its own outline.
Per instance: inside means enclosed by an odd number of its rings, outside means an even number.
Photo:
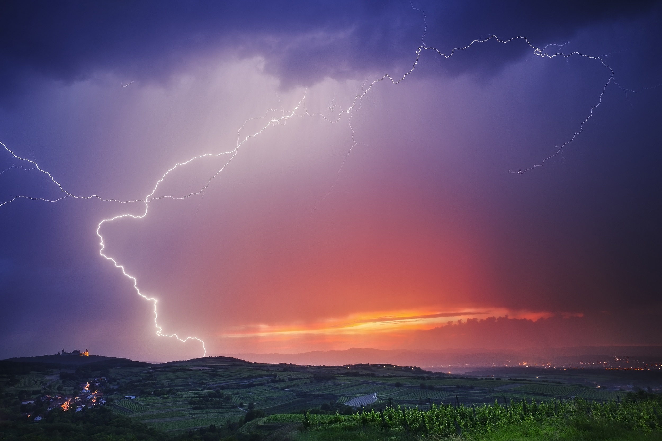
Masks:
[[[606,88],[608,87],[608,85],[610,83],[614,82],[614,70],[612,70],[612,68],[608,64],[606,64],[600,56],[589,56],[589,55],[586,55],[586,54],[581,54],[580,52],[571,52],[569,54],[565,54],[564,52],[558,52],[558,51],[554,52],[554,53],[547,52],[547,48],[549,48],[550,46],[557,46],[559,48],[563,48],[564,45],[563,44],[561,44],[561,45],[559,45],[559,44],[549,44],[549,45],[547,45],[547,46],[545,46],[544,48],[541,49],[541,48],[538,48],[538,47],[534,46],[533,44],[531,44],[529,42],[529,40],[524,36],[516,36],[516,37],[513,37],[513,38],[509,38],[508,40],[500,40],[496,35],[492,35],[492,36],[489,36],[488,38],[473,40],[467,46],[464,46],[464,47],[461,47],[461,48],[453,48],[453,50],[451,50],[451,52],[449,52],[449,54],[444,54],[444,52],[441,52],[437,48],[426,45],[425,36],[426,36],[426,33],[427,33],[427,21],[426,21],[425,11],[423,11],[422,9],[415,8],[413,5],[412,5],[412,8],[414,8],[416,11],[420,11],[423,14],[423,21],[424,21],[424,24],[425,24],[424,32],[421,36],[421,45],[418,46],[418,48],[416,49],[416,52],[415,52],[416,58],[414,60],[412,68],[408,72],[404,73],[404,75],[402,75],[402,77],[400,77],[399,79],[396,79],[396,78],[392,77],[391,75],[386,74],[386,75],[383,75],[382,77],[380,77],[378,79],[375,79],[371,82],[368,82],[366,80],[363,83],[363,85],[361,85],[361,92],[357,93],[354,96],[354,99],[352,99],[352,101],[351,101],[351,105],[349,105],[345,109],[343,109],[343,107],[340,106],[340,105],[333,105],[333,101],[332,101],[332,103],[330,103],[330,105],[328,107],[328,112],[326,112],[326,113],[308,113],[308,111],[305,107],[305,98],[306,98],[306,92],[305,92],[303,94],[303,97],[302,97],[301,101],[299,101],[299,103],[297,103],[297,105],[293,109],[291,109],[290,111],[283,111],[282,109],[269,109],[265,112],[263,117],[252,118],[252,119],[246,120],[244,122],[244,125],[241,128],[239,128],[239,130],[237,131],[236,146],[234,146],[234,148],[232,148],[232,150],[219,152],[219,153],[202,154],[202,155],[198,155],[198,156],[193,156],[193,158],[190,158],[189,160],[186,160],[184,162],[178,162],[177,164],[175,164],[174,166],[169,168],[169,170],[167,170],[160,177],[160,179],[158,179],[158,181],[154,185],[152,191],[150,193],[148,193],[148,195],[146,195],[146,197],[144,199],[140,199],[140,200],[136,200],[136,201],[118,201],[116,199],[103,199],[103,198],[99,197],[98,195],[90,195],[90,196],[73,195],[72,193],[69,193],[68,191],[66,191],[62,187],[62,185],[58,181],[56,181],[56,179],[54,179],[54,177],[49,172],[47,172],[45,170],[42,170],[42,168],[40,168],[35,161],[17,156],[5,144],[0,142],[0,145],[3,146],[3,148],[5,148],[5,150],[7,150],[7,152],[9,152],[13,156],[13,158],[15,158],[17,160],[20,160],[20,161],[28,162],[29,164],[31,164],[29,166],[30,168],[24,168],[23,166],[11,166],[7,170],[4,170],[3,172],[0,172],[0,174],[2,174],[4,172],[7,172],[9,170],[12,170],[14,168],[23,169],[23,170],[38,170],[39,172],[44,173],[45,175],[48,176],[50,181],[52,181],[52,183],[54,183],[58,187],[58,189],[60,190],[60,194],[61,194],[60,197],[57,197],[57,198],[54,198],[54,199],[47,199],[45,197],[28,197],[28,196],[19,195],[19,196],[13,197],[12,199],[10,199],[8,201],[0,203],[0,207],[3,207],[4,205],[7,205],[7,204],[9,204],[13,201],[16,201],[17,199],[30,199],[32,201],[44,201],[44,202],[55,203],[55,202],[61,201],[62,199],[66,199],[66,198],[99,199],[100,201],[106,201],[106,202],[117,202],[117,203],[122,203],[122,204],[141,203],[142,205],[144,205],[144,211],[142,212],[142,215],[133,215],[133,214],[130,214],[130,213],[124,213],[124,214],[121,214],[121,215],[117,215],[115,217],[111,217],[109,219],[103,219],[101,222],[99,222],[97,224],[96,233],[97,233],[97,236],[99,237],[99,247],[100,247],[99,248],[99,255],[101,257],[105,258],[106,260],[111,261],[115,265],[116,268],[119,268],[122,271],[122,274],[125,277],[127,277],[128,279],[130,279],[132,281],[133,288],[140,297],[142,297],[146,301],[151,301],[153,303],[153,305],[154,305],[154,326],[156,327],[156,335],[157,336],[174,337],[174,338],[176,338],[177,340],[179,340],[180,342],[183,342],[183,343],[187,342],[188,340],[197,340],[198,342],[201,343],[202,348],[203,348],[203,356],[205,356],[205,355],[207,355],[207,348],[205,348],[205,342],[203,340],[201,340],[201,338],[198,338],[196,336],[187,336],[185,338],[181,338],[177,334],[166,334],[166,333],[164,333],[162,326],[160,326],[158,324],[158,311],[157,311],[158,299],[156,299],[155,297],[150,297],[150,296],[142,293],[140,291],[140,288],[138,287],[138,279],[136,279],[136,277],[134,275],[131,275],[130,273],[128,273],[126,271],[126,268],[124,268],[123,265],[119,264],[117,262],[117,260],[115,260],[111,256],[108,256],[107,254],[105,254],[105,252],[104,252],[105,251],[105,241],[104,241],[103,235],[101,234],[101,228],[104,224],[106,224],[107,222],[113,222],[117,219],[123,219],[123,218],[143,219],[144,217],[146,217],[148,215],[149,205],[150,205],[150,202],[152,202],[152,201],[156,201],[156,200],[164,199],[164,198],[167,198],[167,199],[186,199],[186,198],[192,197],[194,195],[203,195],[205,190],[209,187],[209,185],[211,185],[211,182],[213,181],[213,179],[215,177],[217,177],[220,173],[222,173],[223,170],[226,168],[226,166],[228,166],[228,164],[230,164],[230,162],[236,156],[236,154],[238,153],[240,148],[244,144],[246,144],[246,142],[248,142],[250,139],[256,138],[257,136],[260,136],[260,134],[263,133],[265,130],[267,130],[267,128],[269,128],[270,126],[275,126],[275,125],[278,125],[278,124],[285,124],[287,122],[287,120],[289,120],[293,117],[314,117],[314,116],[322,117],[323,119],[325,119],[326,121],[328,121],[330,123],[338,123],[342,119],[343,115],[347,115],[348,116],[348,126],[350,127],[350,130],[352,131],[352,144],[351,144],[350,148],[348,149],[348,152],[345,154],[344,159],[342,161],[342,164],[340,165],[340,168],[339,168],[338,173],[336,175],[336,182],[333,185],[331,185],[331,187],[330,187],[329,191],[326,193],[326,195],[322,199],[320,199],[320,201],[318,201],[315,204],[315,206],[313,208],[313,209],[315,209],[316,206],[318,205],[318,203],[323,201],[324,198],[326,198],[328,196],[328,194],[338,184],[342,167],[344,166],[344,164],[346,163],[348,157],[352,153],[352,150],[358,145],[358,143],[356,142],[356,140],[354,138],[355,133],[354,133],[354,127],[352,126],[352,116],[354,115],[355,111],[358,111],[361,108],[361,103],[362,103],[363,97],[365,97],[371,91],[373,86],[377,83],[380,83],[382,81],[390,80],[391,83],[393,83],[395,85],[395,84],[398,84],[401,81],[403,81],[409,74],[414,72],[414,70],[416,69],[416,66],[418,65],[418,61],[419,61],[420,56],[421,56],[423,51],[432,51],[432,52],[435,52],[438,56],[442,56],[445,59],[448,59],[448,58],[451,58],[451,56],[453,56],[453,54],[455,54],[455,52],[467,50],[467,49],[471,48],[472,46],[474,46],[475,44],[485,43],[485,42],[488,42],[490,40],[495,40],[496,42],[499,42],[499,43],[502,43],[502,44],[508,44],[508,43],[513,42],[515,40],[522,40],[522,41],[526,42],[526,44],[528,44],[528,46],[530,46],[530,48],[533,50],[534,55],[539,56],[541,58],[552,59],[552,58],[557,58],[557,57],[563,57],[563,58],[570,58],[570,57],[573,57],[573,56],[583,57],[583,58],[588,58],[589,60],[595,60],[597,62],[600,62],[600,64],[602,64],[602,66],[604,66],[609,71],[609,73],[610,73],[609,78],[608,78],[607,82],[604,84],[604,87],[602,87],[602,93],[600,93],[600,96],[597,99],[597,103],[595,105],[593,105],[593,107],[591,107],[591,109],[589,111],[589,115],[586,117],[586,119],[584,121],[581,122],[581,124],[579,124],[579,129],[577,131],[575,131],[573,136],[567,142],[565,142],[563,145],[558,147],[557,152],[555,154],[545,158],[544,160],[542,160],[542,162],[540,164],[536,164],[536,165],[534,165],[531,168],[528,168],[526,170],[518,170],[517,172],[512,172],[512,173],[518,173],[518,174],[526,173],[530,170],[534,170],[535,168],[542,167],[542,166],[545,165],[545,162],[547,162],[548,160],[551,160],[552,158],[555,158],[556,156],[559,156],[559,154],[561,154],[563,152],[563,148],[565,148],[565,146],[567,146],[571,142],[573,142],[573,140],[575,140],[575,138],[583,132],[584,124],[586,124],[587,121],[589,121],[589,119],[591,119],[591,117],[593,116],[593,111],[602,103],[602,98],[604,96]],[[136,81],[131,81],[130,83],[127,83],[126,85],[120,83],[120,85],[122,85],[122,87],[127,87],[128,85],[130,85],[134,82],[136,82]],[[618,85],[618,87],[620,87],[620,85]],[[655,87],[657,87],[657,86],[655,86]],[[622,87],[620,87],[620,88],[623,89]],[[626,89],[624,89],[624,91],[625,90]],[[278,113],[278,112],[279,112],[280,116],[277,116],[277,117],[276,116],[269,116],[269,115],[273,115],[274,113]],[[332,115],[336,115],[336,117],[333,117]],[[242,132],[242,130],[244,130],[244,128],[246,128],[246,124],[248,124],[250,121],[253,121],[253,120],[256,120],[256,119],[267,119],[267,122],[261,126],[260,130],[257,130],[256,132],[253,132],[252,134],[249,134],[248,136],[244,136],[244,138],[241,138],[240,132]],[[194,192],[194,193],[189,193],[188,195],[185,195],[183,197],[173,197],[173,196],[169,196],[169,195],[158,196],[158,197],[155,196],[159,185],[164,181],[164,179],[166,179],[166,177],[169,175],[169,173],[173,172],[177,168],[182,168],[184,166],[187,166],[187,164],[191,164],[192,162],[197,161],[197,160],[204,160],[205,158],[213,158],[213,157],[218,158],[220,156],[228,156],[228,160],[225,162],[225,164],[223,164],[209,178],[207,183],[205,183],[205,185],[203,185],[203,187],[199,191]]]

